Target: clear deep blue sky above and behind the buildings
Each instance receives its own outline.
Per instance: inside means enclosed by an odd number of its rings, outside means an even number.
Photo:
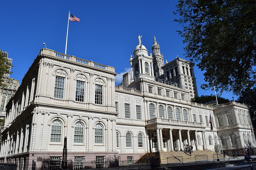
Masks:
[[[149,53],[152,53],[156,36],[164,61],[171,61],[177,55],[185,58],[185,44],[176,32],[181,26],[173,22],[178,18],[173,15],[176,4],[176,0],[3,1],[0,49],[13,58],[10,77],[21,81],[40,49],[44,48],[43,42],[49,49],[65,52],[70,11],[81,20],[69,22],[68,55],[110,65],[117,73],[124,73],[130,68],[130,55],[140,34]],[[199,96],[214,94],[211,90],[200,89],[205,83],[202,74],[195,66]],[[120,83],[119,79],[116,77],[116,84]],[[225,92],[222,97],[232,100],[233,94]]]

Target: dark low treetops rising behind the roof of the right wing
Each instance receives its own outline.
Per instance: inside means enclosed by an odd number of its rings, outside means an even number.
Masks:
[[[220,97],[219,95],[217,95],[217,99],[218,99],[218,104],[229,102],[228,99]],[[196,102],[196,103],[206,103],[206,102],[213,101],[213,100],[216,100],[216,97],[213,94],[211,94],[211,95],[201,95],[200,97],[195,97],[195,98],[191,99],[192,102]]]

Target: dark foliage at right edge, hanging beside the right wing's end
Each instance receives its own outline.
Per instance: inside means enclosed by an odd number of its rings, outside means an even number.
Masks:
[[[256,89],[247,89],[241,92],[237,102],[247,104],[250,107],[250,114],[254,127],[256,125]]]

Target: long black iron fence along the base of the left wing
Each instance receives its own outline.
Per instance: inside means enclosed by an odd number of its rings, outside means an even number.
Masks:
[[[65,165],[63,165],[65,164]],[[46,168],[48,166],[48,168]],[[64,168],[63,168],[64,167]],[[136,170],[150,169],[150,161],[148,158],[140,160],[125,161],[95,161],[95,162],[72,162],[72,161],[48,161],[43,162],[42,170]]]

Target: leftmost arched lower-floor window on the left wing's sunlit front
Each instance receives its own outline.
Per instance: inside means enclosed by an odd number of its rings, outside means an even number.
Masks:
[[[51,131],[51,142],[59,142],[61,139],[61,122],[59,120],[54,120],[52,122]]]

